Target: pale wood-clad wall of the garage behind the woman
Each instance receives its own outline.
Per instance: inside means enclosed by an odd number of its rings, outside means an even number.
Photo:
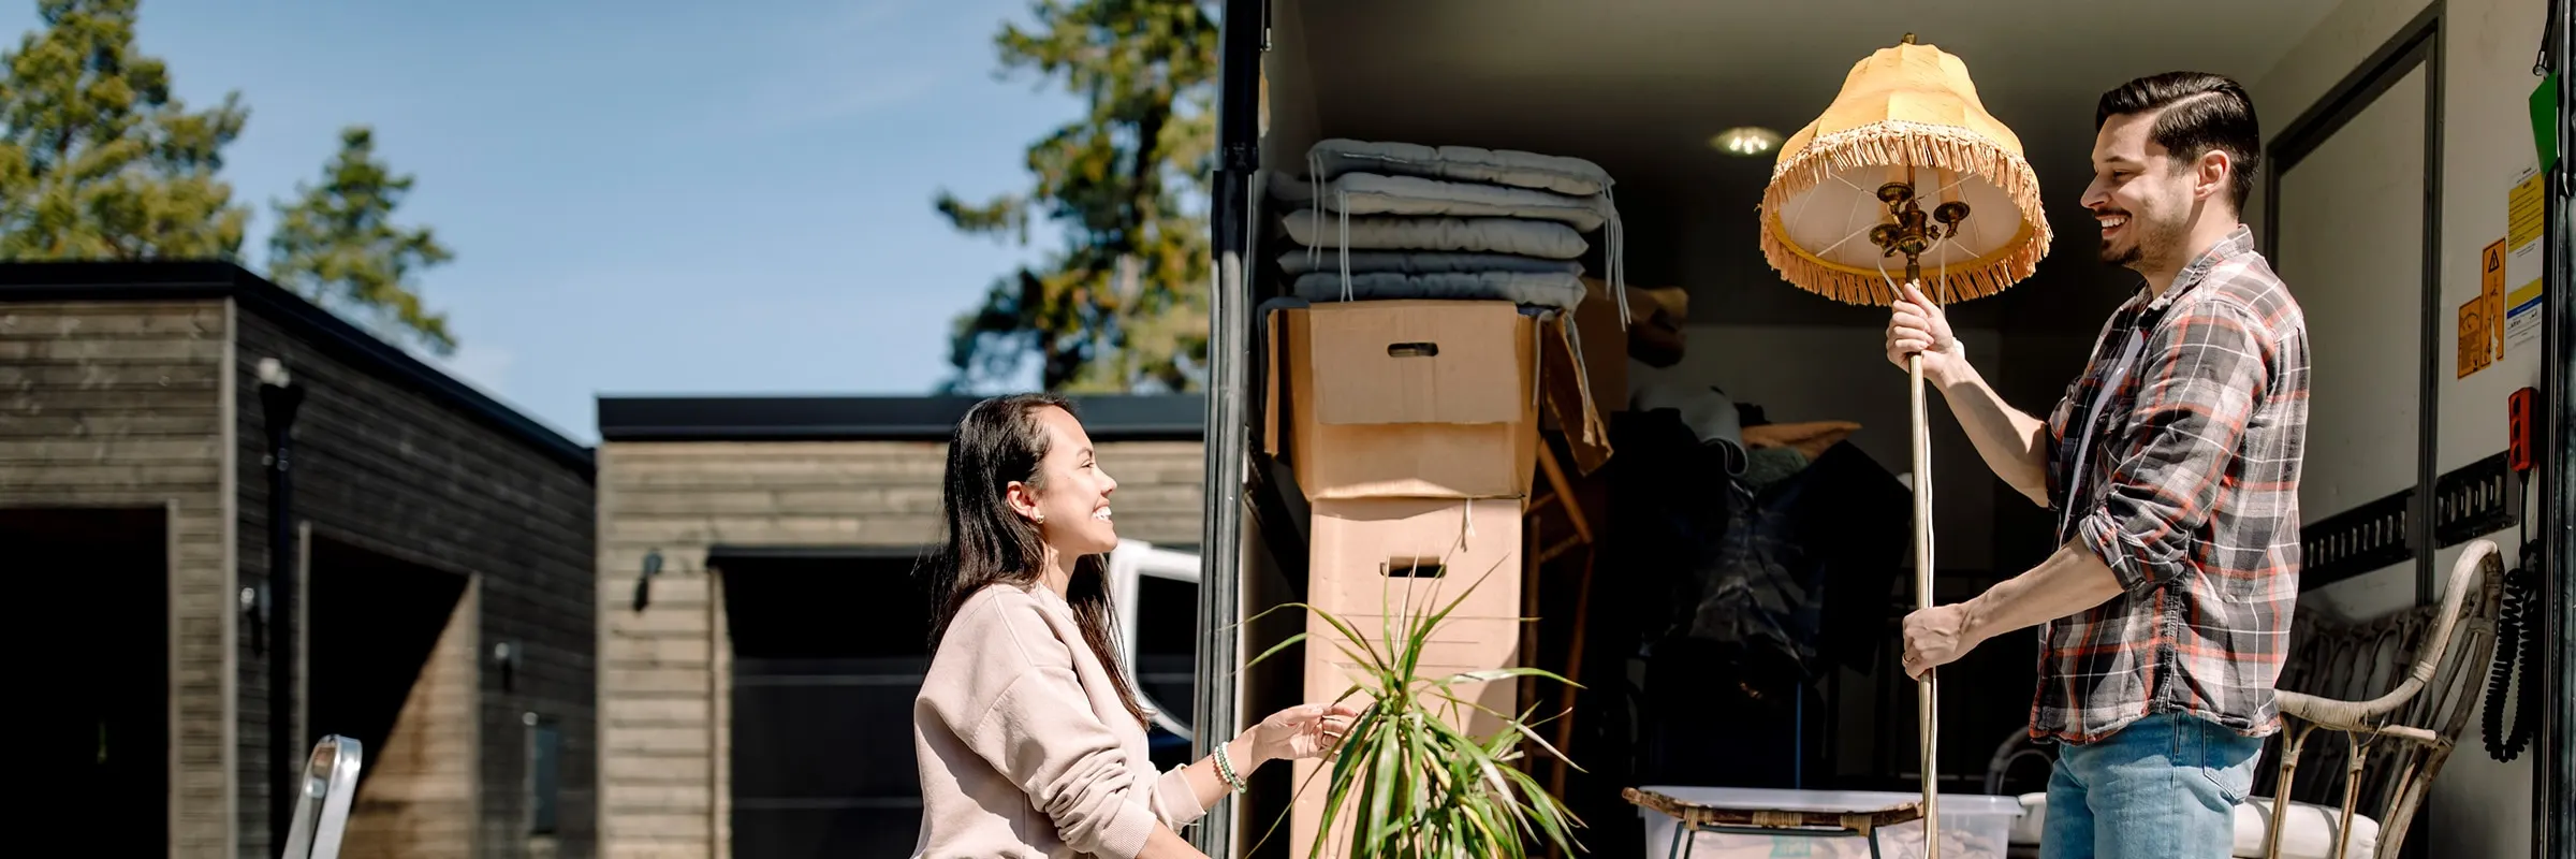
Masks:
[[[598,457],[600,854],[726,856],[729,645],[708,547],[927,544],[945,446],[608,441]],[[1118,480],[1121,537],[1198,544],[1198,441],[1105,441],[1100,464]],[[662,575],[636,611],[636,578],[654,549]]]

